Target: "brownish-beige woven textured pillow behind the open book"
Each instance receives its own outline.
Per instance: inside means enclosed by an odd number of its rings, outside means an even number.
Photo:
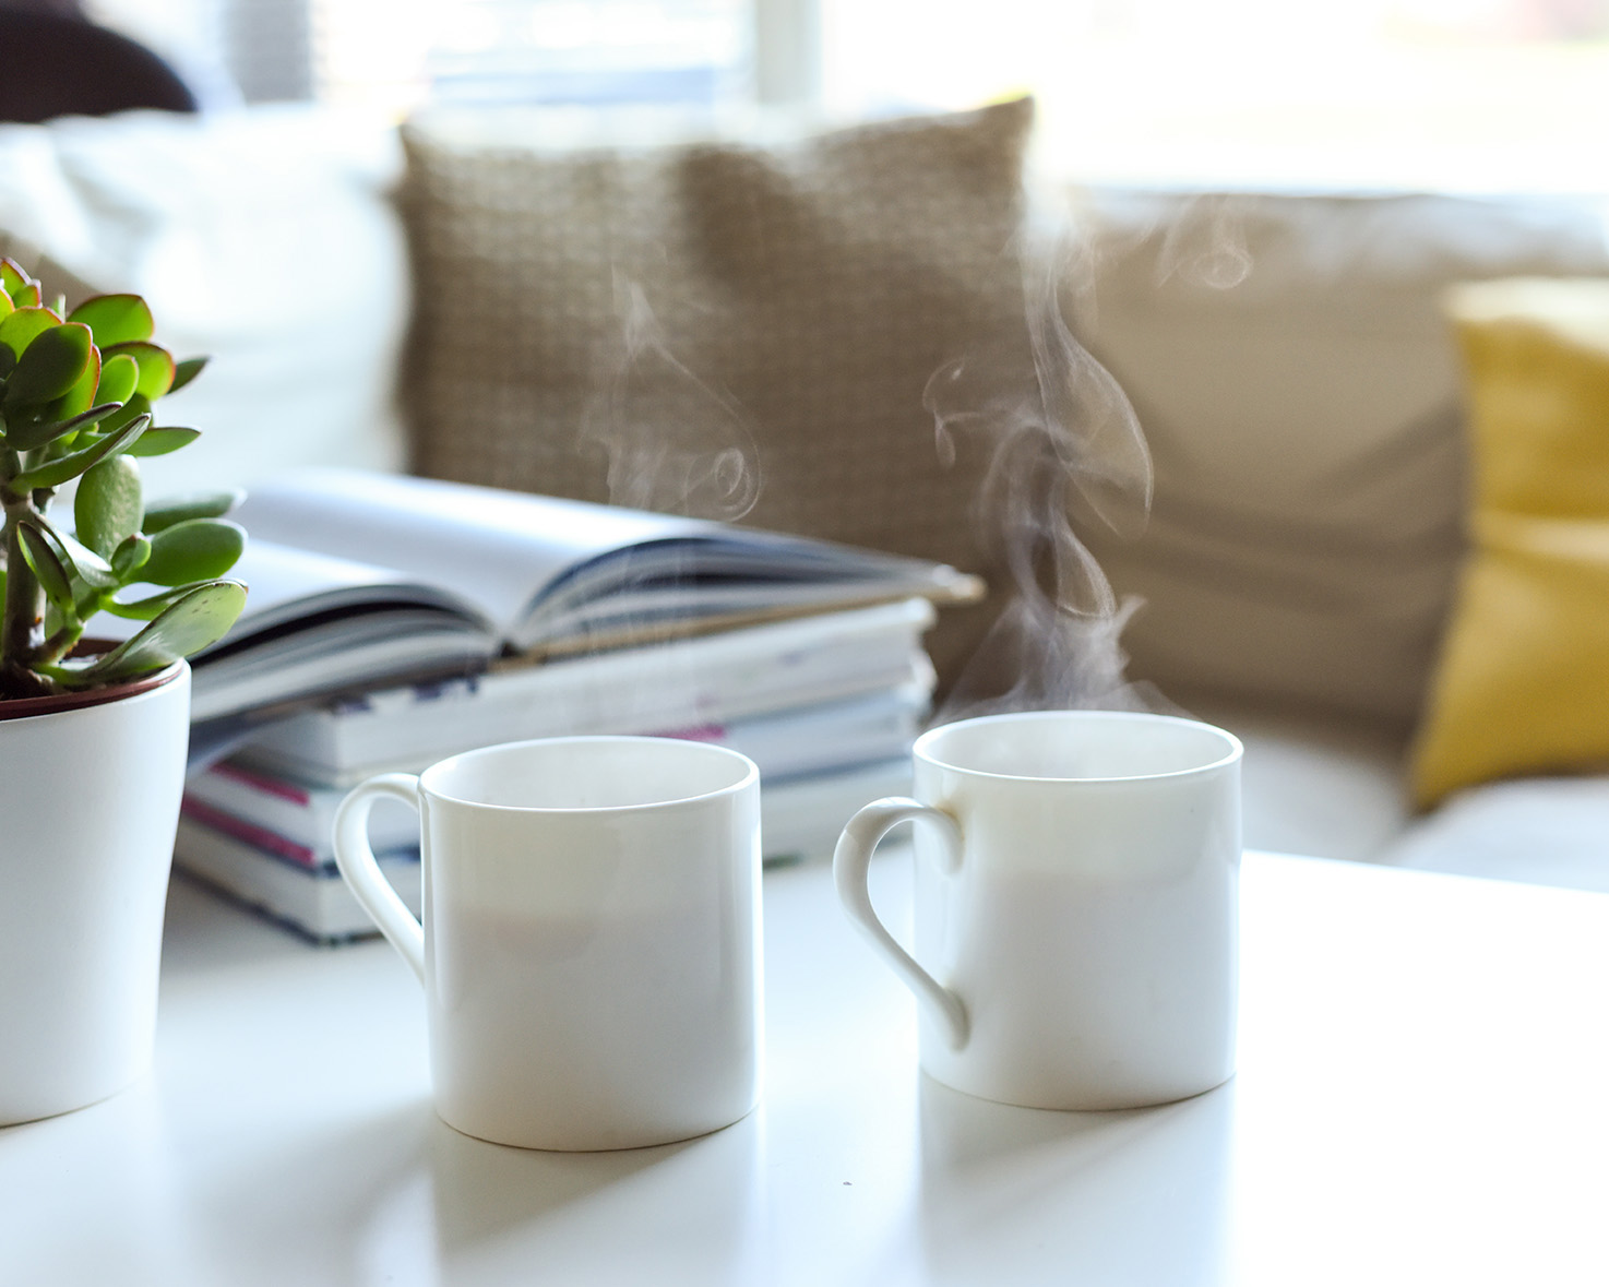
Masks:
[[[410,124],[415,468],[988,574],[973,444],[946,468],[922,394],[983,343],[1025,357],[1031,114],[579,150]],[[944,615],[941,672],[988,615]]]

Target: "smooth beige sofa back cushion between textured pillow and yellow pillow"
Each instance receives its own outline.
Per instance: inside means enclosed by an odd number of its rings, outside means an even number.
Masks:
[[[1080,331],[1155,465],[1139,542],[1091,544],[1131,674],[1401,730],[1464,547],[1455,282],[1609,269],[1591,203],[1086,193]]]

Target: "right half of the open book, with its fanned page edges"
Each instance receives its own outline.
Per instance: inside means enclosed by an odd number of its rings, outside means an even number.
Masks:
[[[920,595],[977,578],[825,541],[357,470],[259,486],[238,518],[267,537],[451,586],[512,652],[563,653]]]

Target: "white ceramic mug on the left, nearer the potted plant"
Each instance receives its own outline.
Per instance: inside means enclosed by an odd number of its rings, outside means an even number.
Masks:
[[[368,848],[420,811],[423,923]],[[425,985],[436,1112],[528,1149],[714,1131],[759,1094],[759,774],[721,746],[565,737],[357,787],[341,875]]]

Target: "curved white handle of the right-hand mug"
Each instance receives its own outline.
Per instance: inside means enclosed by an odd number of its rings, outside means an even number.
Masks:
[[[843,903],[843,911],[854,922],[854,927],[866,935],[899,980],[916,993],[917,1004],[927,1007],[928,1015],[949,1039],[951,1049],[959,1051],[967,1044],[970,1031],[967,1007],[959,996],[917,965],[916,959],[895,941],[883,922],[877,919],[872,896],[866,888],[866,875],[877,841],[901,822],[912,820],[930,822],[940,833],[943,840],[940,870],[946,875],[961,870],[961,827],[956,819],[920,800],[888,796],[874,800],[845,825],[843,835],[838,837],[838,848],[832,854],[832,882],[838,890],[838,901]]]

